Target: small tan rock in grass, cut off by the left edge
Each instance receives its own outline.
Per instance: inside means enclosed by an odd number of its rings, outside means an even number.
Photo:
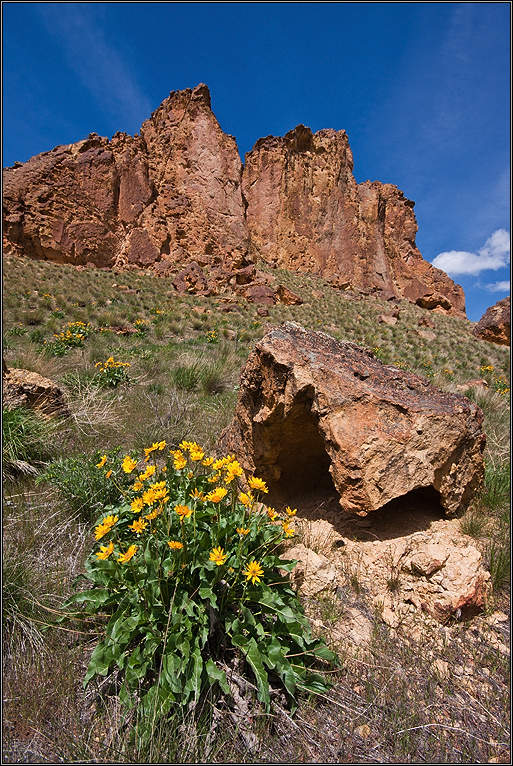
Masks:
[[[29,407],[44,417],[69,415],[62,390],[36,372],[8,368],[3,361],[3,406]]]

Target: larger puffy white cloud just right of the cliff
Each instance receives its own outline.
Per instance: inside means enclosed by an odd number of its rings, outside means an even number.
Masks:
[[[480,274],[482,271],[497,271],[508,266],[510,258],[510,236],[505,229],[497,229],[486,240],[477,253],[466,250],[449,250],[439,253],[431,263],[449,276],[457,274]]]

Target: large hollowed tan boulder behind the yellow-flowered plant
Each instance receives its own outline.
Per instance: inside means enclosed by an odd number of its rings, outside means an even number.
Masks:
[[[343,511],[367,513],[432,488],[455,512],[483,478],[482,422],[466,397],[288,323],[251,352],[220,448],[265,479],[275,501],[324,484]]]

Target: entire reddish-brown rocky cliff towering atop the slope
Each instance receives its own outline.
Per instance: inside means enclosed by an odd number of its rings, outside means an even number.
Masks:
[[[172,92],[140,135],[96,134],[4,170],[4,252],[219,281],[257,258],[341,288],[465,316],[463,290],[424,261],[414,203],[357,184],[345,131],[300,125],[242,165],[206,85]]]

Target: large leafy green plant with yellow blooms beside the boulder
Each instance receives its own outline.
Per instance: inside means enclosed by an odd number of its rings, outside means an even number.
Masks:
[[[143,730],[212,687],[229,695],[235,661],[267,711],[270,683],[283,687],[292,708],[298,691],[326,691],[312,666],[337,665],[337,657],[312,637],[290,587],[296,562],[278,555],[294,535],[295,511],[258,502],[267,493],[259,478],[242,492],[239,463],[207,457],[195,442],[176,450],[156,442],[144,452],[121,465],[104,455],[97,465],[113,481],[133,476],[133,484],[127,491],[120,482],[122,500],[95,525],[82,576],[90,589],[65,604],[82,610],[67,617],[105,617],[84,684],[119,669],[121,702],[138,706]]]

